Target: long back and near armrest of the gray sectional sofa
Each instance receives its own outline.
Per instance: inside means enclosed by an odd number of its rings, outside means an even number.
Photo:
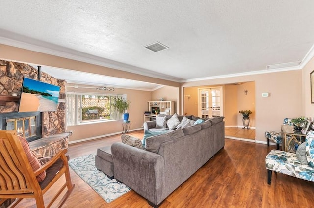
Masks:
[[[146,139],[146,150],[114,143],[111,146],[114,178],[157,208],[224,147],[223,118],[151,136]]]

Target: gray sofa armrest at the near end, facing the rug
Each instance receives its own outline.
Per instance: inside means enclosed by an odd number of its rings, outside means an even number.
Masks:
[[[162,156],[120,142],[112,144],[111,153],[115,179],[156,205],[162,202],[166,197]]]

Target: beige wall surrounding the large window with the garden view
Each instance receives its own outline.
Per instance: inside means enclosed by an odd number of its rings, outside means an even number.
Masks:
[[[73,84],[67,84],[67,92],[87,92],[87,93],[105,93],[108,91],[100,91],[86,85],[79,85],[79,88],[71,87]],[[96,88],[96,86],[95,86]],[[114,94],[126,94],[127,99],[131,101],[129,109],[130,130],[139,129],[143,126],[144,111],[147,110],[147,101],[151,99],[152,93],[141,90],[129,90],[115,88]],[[82,140],[87,138],[100,137],[102,135],[121,133],[122,132],[122,120],[107,121],[91,124],[80,124],[75,126],[68,126],[67,131],[73,131],[73,135],[70,136],[70,142],[76,140]]]

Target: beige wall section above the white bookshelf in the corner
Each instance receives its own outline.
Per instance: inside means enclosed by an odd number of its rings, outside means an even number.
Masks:
[[[179,112],[179,87],[163,86],[152,92],[151,101],[159,101],[163,98],[164,101],[174,101],[175,102],[175,112]],[[147,107],[148,108],[148,105]],[[148,110],[148,109],[147,109]]]

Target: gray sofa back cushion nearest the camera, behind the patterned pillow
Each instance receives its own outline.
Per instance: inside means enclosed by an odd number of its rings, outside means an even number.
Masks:
[[[160,134],[157,136],[151,136],[146,139],[145,148],[153,153],[158,153],[160,145],[164,142],[172,139],[183,137],[184,133],[182,129],[177,129],[166,134]]]

